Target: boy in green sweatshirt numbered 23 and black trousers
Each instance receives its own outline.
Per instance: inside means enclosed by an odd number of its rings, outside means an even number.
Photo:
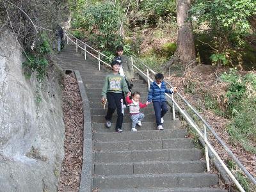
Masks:
[[[124,101],[123,95],[124,93],[129,93],[127,84],[125,83],[124,77],[120,76],[119,69],[120,63],[118,61],[113,61],[111,63],[111,67],[113,70],[113,74],[108,74],[106,76],[103,88],[102,88],[102,103],[106,103],[108,99],[108,112],[105,116],[106,119],[106,127],[111,127],[111,118],[115,109],[117,111],[117,120],[116,120],[116,132],[122,132],[122,124],[123,124],[123,115],[124,115]]]

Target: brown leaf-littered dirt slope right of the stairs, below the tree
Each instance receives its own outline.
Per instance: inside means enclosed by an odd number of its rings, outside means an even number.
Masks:
[[[205,93],[211,93],[216,95],[220,108],[225,108],[227,100],[225,100],[225,90],[227,90],[227,84],[221,82],[219,76],[227,68],[216,68],[211,65],[200,65],[193,68],[186,75],[171,73],[170,76],[166,74],[166,80],[172,83],[172,86],[177,86],[179,93],[186,99],[192,106],[200,108],[200,115],[206,120],[206,122],[218,133],[221,140],[223,140],[228,148],[232,150],[235,156],[243,163],[247,170],[256,177],[256,156],[250,152],[246,152],[242,145],[238,142],[230,141],[227,129],[225,127],[230,122],[227,118],[217,116],[213,111],[204,108],[204,95]],[[185,89],[190,86],[191,92],[185,92]],[[178,97],[175,96],[177,99]],[[184,107],[184,104],[182,104]],[[216,148],[218,154],[224,161],[230,159],[227,152],[221,147],[218,141],[210,136],[211,144]],[[253,143],[256,146],[256,143]]]

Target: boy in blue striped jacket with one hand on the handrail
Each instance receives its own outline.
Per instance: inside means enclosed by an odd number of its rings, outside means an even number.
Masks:
[[[177,87],[173,87],[170,89],[166,88],[166,85],[163,81],[163,74],[156,74],[156,81],[150,84],[150,88],[148,91],[148,102],[153,102],[155,116],[156,116],[156,125],[158,130],[163,130],[163,116],[168,111],[165,99],[165,93],[172,94],[173,92],[177,92]]]

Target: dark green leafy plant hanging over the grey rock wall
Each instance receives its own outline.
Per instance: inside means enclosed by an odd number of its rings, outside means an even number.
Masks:
[[[22,63],[26,77],[30,77],[32,72],[36,72],[36,78],[39,82],[44,79],[49,64],[46,58],[51,50],[49,38],[45,33],[42,33],[33,50],[26,52],[28,58]]]

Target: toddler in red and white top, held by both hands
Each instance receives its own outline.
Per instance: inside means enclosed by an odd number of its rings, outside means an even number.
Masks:
[[[141,120],[144,118],[144,114],[140,113],[140,108],[145,108],[149,104],[146,102],[145,104],[140,102],[140,92],[134,92],[132,93],[132,99],[130,99],[130,94],[127,94],[126,103],[129,104],[129,111],[131,115],[132,120],[132,129],[131,131],[137,131],[136,124],[141,126]]]

